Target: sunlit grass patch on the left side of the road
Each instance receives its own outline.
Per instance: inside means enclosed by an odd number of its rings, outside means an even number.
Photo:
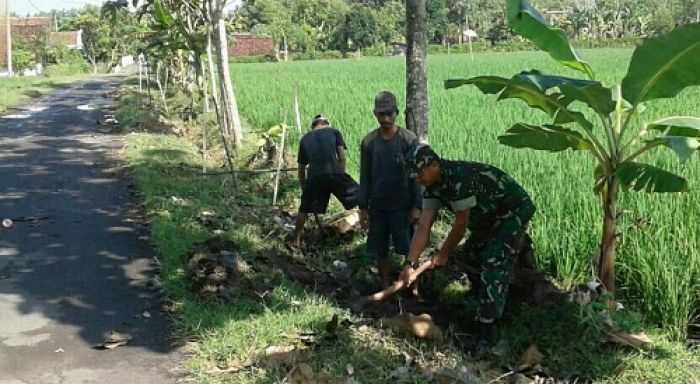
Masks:
[[[0,113],[8,108],[21,104],[30,98],[36,98],[50,92],[62,84],[78,80],[85,75],[57,77],[3,77],[0,79]]]

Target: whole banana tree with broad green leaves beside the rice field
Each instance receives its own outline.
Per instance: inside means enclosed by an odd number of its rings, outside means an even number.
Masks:
[[[614,293],[618,193],[688,190],[685,178],[638,160],[658,147],[671,149],[681,161],[688,160],[700,148],[700,118],[667,117],[640,126],[637,117],[643,103],[672,98],[689,86],[700,85],[700,24],[646,40],[634,51],[621,85],[611,89],[595,80],[593,68],[581,59],[564,32],[548,26],[525,0],[507,0],[506,12],[515,33],[585,78],[531,70],[511,78],[448,79],[445,88],[473,85],[485,94],[498,95],[498,100],[525,101],[552,119],[542,126],[517,123],[499,136],[502,144],[550,152],[581,150],[592,155],[597,163],[594,191],[603,206],[598,276]],[[585,115],[577,107],[591,113]]]

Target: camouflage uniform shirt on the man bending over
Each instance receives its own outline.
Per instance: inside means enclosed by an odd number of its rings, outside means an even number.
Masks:
[[[487,164],[440,161],[439,185],[423,192],[423,209],[470,210],[469,229],[488,228],[501,216],[530,204],[527,192],[508,174]]]

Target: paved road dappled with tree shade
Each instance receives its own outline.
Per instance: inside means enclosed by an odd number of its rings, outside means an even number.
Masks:
[[[0,384],[172,383],[179,353],[121,136],[97,125],[118,78],[75,83],[0,117]],[[135,317],[148,311],[151,317]],[[133,340],[96,350],[109,331]]]

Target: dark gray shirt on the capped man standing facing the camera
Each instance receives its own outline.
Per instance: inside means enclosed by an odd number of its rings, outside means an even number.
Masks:
[[[360,208],[420,208],[420,185],[408,177],[406,169],[406,154],[416,140],[404,128],[389,140],[382,138],[379,129],[365,136],[360,154]]]

